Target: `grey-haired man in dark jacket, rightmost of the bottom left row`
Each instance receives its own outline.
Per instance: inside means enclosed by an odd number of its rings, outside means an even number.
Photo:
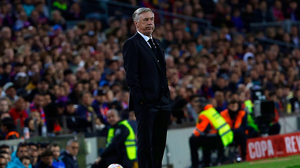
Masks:
[[[79,151],[79,144],[76,140],[71,139],[67,142],[66,150],[62,152],[61,158],[65,163],[66,168],[79,168],[77,163],[77,154]]]

